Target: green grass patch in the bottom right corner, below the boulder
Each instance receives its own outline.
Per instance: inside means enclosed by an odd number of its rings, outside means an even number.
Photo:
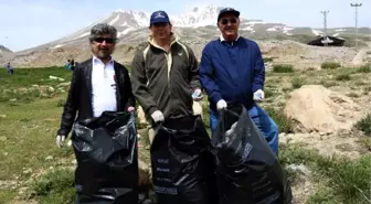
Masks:
[[[287,164],[305,164],[309,167],[312,179],[321,183],[324,189],[310,196],[309,203],[368,203],[371,200],[371,155],[359,160],[339,157],[322,157],[316,151],[298,148],[298,146],[280,146],[280,162]]]

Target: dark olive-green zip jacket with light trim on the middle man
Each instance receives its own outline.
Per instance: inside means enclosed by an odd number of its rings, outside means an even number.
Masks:
[[[193,115],[191,97],[201,88],[199,63],[193,51],[172,35],[169,52],[150,37],[131,63],[132,93],[147,117],[156,110],[165,118]]]

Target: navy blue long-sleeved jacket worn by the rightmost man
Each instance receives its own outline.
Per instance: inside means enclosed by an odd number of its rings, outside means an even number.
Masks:
[[[240,36],[235,42],[214,40],[202,51],[200,80],[210,108],[224,99],[227,105],[254,105],[253,93],[264,87],[265,66],[258,45]]]

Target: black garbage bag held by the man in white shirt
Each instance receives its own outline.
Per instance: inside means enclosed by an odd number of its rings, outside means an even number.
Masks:
[[[77,160],[76,204],[137,204],[135,116],[105,111],[77,121],[72,136]]]

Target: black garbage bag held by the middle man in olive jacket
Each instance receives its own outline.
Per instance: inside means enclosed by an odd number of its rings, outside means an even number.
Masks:
[[[210,138],[200,117],[168,119],[151,144],[152,183],[158,204],[215,204]]]

